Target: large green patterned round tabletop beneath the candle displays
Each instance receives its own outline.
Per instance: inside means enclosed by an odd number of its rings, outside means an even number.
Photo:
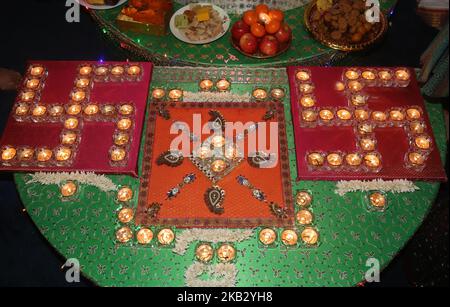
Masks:
[[[155,67],[151,88],[166,85],[168,67]],[[193,68],[194,69],[194,68]],[[259,74],[262,70],[248,69]],[[282,76],[283,69],[271,70]],[[286,76],[287,79],[287,76]],[[196,82],[183,83],[194,90]],[[240,85],[237,91],[248,92],[252,85]],[[286,95],[289,97],[289,95]],[[432,206],[439,183],[416,182],[413,193],[387,193],[389,207],[384,212],[370,212],[365,192],[338,196],[335,182],[296,181],[296,159],[289,99],[284,101],[292,188],[309,190],[313,195],[314,225],[320,240],[314,248],[262,247],[260,228],[249,238],[234,243],[237,257],[237,286],[353,286],[360,283],[369,268],[366,262],[376,258],[384,268],[413,236]],[[446,137],[442,107],[426,104],[437,148],[445,161]],[[141,161],[142,165],[142,150]],[[139,179],[108,175],[118,186],[135,191],[131,203],[137,205]],[[64,258],[79,260],[81,270],[101,286],[183,286],[186,271],[195,260],[195,244],[184,255],[155,244],[117,244],[116,191],[102,192],[80,185],[78,196],[63,201],[57,185],[27,184],[30,174],[15,174],[22,202],[40,232]],[[153,228],[156,230],[156,228]],[[175,229],[178,236],[184,230]],[[155,239],[153,239],[155,241]],[[217,246],[217,244],[215,245]]]

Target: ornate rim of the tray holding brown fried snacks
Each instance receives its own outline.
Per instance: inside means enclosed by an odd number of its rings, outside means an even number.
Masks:
[[[323,35],[321,35],[320,33],[317,33],[316,31],[314,31],[314,29],[312,28],[311,22],[310,22],[311,21],[311,13],[314,10],[317,10],[317,8],[316,8],[316,1],[312,1],[307,6],[307,8],[305,9],[305,14],[303,15],[303,17],[304,17],[306,28],[312,34],[312,36],[317,41],[319,41],[321,44],[323,44],[325,46],[328,46],[330,48],[336,49],[336,50],[361,51],[361,50],[364,50],[364,49],[368,49],[372,45],[374,45],[377,42],[379,42],[383,38],[383,36],[386,34],[387,29],[388,29],[387,18],[382,12],[380,12],[381,27],[379,28],[379,31],[375,35],[374,38],[372,38],[371,40],[368,40],[368,41],[365,41],[365,42],[362,42],[362,43],[356,43],[356,44],[337,43],[336,41],[333,41],[331,39],[327,39],[327,38],[323,37]]]

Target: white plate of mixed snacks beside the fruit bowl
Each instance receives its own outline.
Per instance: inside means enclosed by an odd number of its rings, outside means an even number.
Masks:
[[[210,3],[189,4],[173,14],[170,31],[189,44],[208,44],[222,37],[230,27],[230,17]]]

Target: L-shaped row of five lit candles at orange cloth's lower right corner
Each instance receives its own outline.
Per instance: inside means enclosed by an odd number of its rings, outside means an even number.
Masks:
[[[317,228],[314,227],[314,215],[311,209],[313,197],[311,193],[306,190],[298,191],[295,196],[295,202],[298,207],[295,215],[298,229],[284,229],[281,231],[280,235],[278,235],[277,231],[272,228],[263,228],[258,234],[259,242],[263,246],[274,247],[278,237],[280,237],[281,243],[288,247],[318,246],[319,232]]]

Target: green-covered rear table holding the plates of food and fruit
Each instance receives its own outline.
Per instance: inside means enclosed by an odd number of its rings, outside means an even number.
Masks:
[[[381,8],[387,12],[396,0],[381,0]],[[175,10],[181,7],[175,3]],[[205,45],[191,45],[179,41],[170,32],[165,36],[150,36],[131,31],[121,31],[115,20],[121,7],[111,10],[90,10],[103,33],[120,47],[131,51],[138,58],[159,65],[193,66],[255,66],[274,67],[294,64],[322,65],[343,58],[346,53],[325,47],[312,38],[303,23],[305,6],[287,10],[286,21],[292,28],[293,43],[283,54],[270,59],[254,59],[239,53],[231,46],[230,31],[220,39]],[[240,16],[230,14],[231,24]]]

